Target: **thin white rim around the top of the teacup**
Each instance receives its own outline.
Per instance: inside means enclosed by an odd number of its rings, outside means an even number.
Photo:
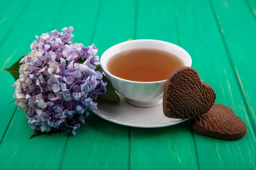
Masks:
[[[189,61],[189,62],[190,62],[190,63],[189,63],[189,67],[191,67],[191,65],[192,65],[192,58],[191,58],[191,56],[190,56],[189,53],[188,53],[185,49],[183,49],[181,46],[178,46],[178,45],[173,44],[173,43],[171,43],[171,42],[166,42],[166,41],[162,41],[162,40],[153,40],[153,39],[138,39],[138,40],[129,40],[129,41],[125,41],[125,42],[120,42],[120,43],[118,43],[118,44],[115,44],[115,45],[109,47],[106,51],[104,51],[104,53],[101,55],[101,58],[104,57],[104,55],[106,55],[106,53],[108,52],[108,50],[113,49],[113,48],[115,48],[116,46],[120,46],[120,45],[122,45],[122,44],[127,44],[127,43],[132,43],[132,42],[135,42],[135,41],[136,41],[136,42],[140,42],[140,41],[141,41],[141,42],[143,42],[143,41],[152,41],[152,42],[168,43],[168,44],[170,44],[170,45],[172,45],[172,46],[175,46],[175,47],[181,49],[182,51],[184,51],[184,53],[186,53],[186,55],[187,55],[187,56],[189,57],[189,59],[190,59],[190,61]],[[100,62],[99,65],[100,65],[101,69],[103,70],[103,73],[107,73],[108,75],[111,75],[112,77],[115,77],[116,79],[122,80],[122,81],[124,81],[124,82],[150,84],[150,83],[162,83],[162,82],[166,82],[166,81],[167,81],[167,79],[164,79],[164,80],[154,81],[154,82],[139,82],[139,81],[132,81],[132,80],[128,80],[128,79],[123,79],[123,78],[117,77],[117,76],[111,74],[111,73],[108,71],[108,69],[105,68],[105,67],[101,64],[101,58],[100,58],[100,60],[99,60],[99,62]],[[171,74],[171,73],[170,73],[170,74]]]

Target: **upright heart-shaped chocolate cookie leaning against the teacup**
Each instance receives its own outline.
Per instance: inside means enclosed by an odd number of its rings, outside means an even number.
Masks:
[[[216,94],[213,88],[201,81],[191,67],[175,69],[168,77],[164,88],[164,115],[170,118],[193,118],[213,106]]]

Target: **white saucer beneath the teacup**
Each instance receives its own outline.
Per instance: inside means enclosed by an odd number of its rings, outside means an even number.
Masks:
[[[179,124],[187,119],[171,119],[164,115],[162,104],[151,108],[139,108],[129,104],[119,95],[120,103],[97,101],[96,115],[116,124],[139,127],[158,128]]]

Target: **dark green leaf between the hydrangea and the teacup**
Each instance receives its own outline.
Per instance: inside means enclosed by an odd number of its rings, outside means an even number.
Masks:
[[[99,66],[97,66],[96,71],[100,71],[101,73],[103,73],[101,71],[101,68]],[[98,99],[100,100],[106,100],[108,102],[114,102],[114,103],[119,103],[120,98],[117,95],[115,88],[112,86],[111,82],[109,81],[109,79],[104,75],[103,75],[103,82],[108,82],[107,84],[107,92],[105,93],[105,95],[99,95]]]

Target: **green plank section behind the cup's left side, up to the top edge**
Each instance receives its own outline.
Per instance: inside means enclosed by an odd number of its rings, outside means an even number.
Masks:
[[[99,56],[110,46],[134,39],[135,0],[126,2],[104,1],[100,11],[93,43],[99,48]]]

